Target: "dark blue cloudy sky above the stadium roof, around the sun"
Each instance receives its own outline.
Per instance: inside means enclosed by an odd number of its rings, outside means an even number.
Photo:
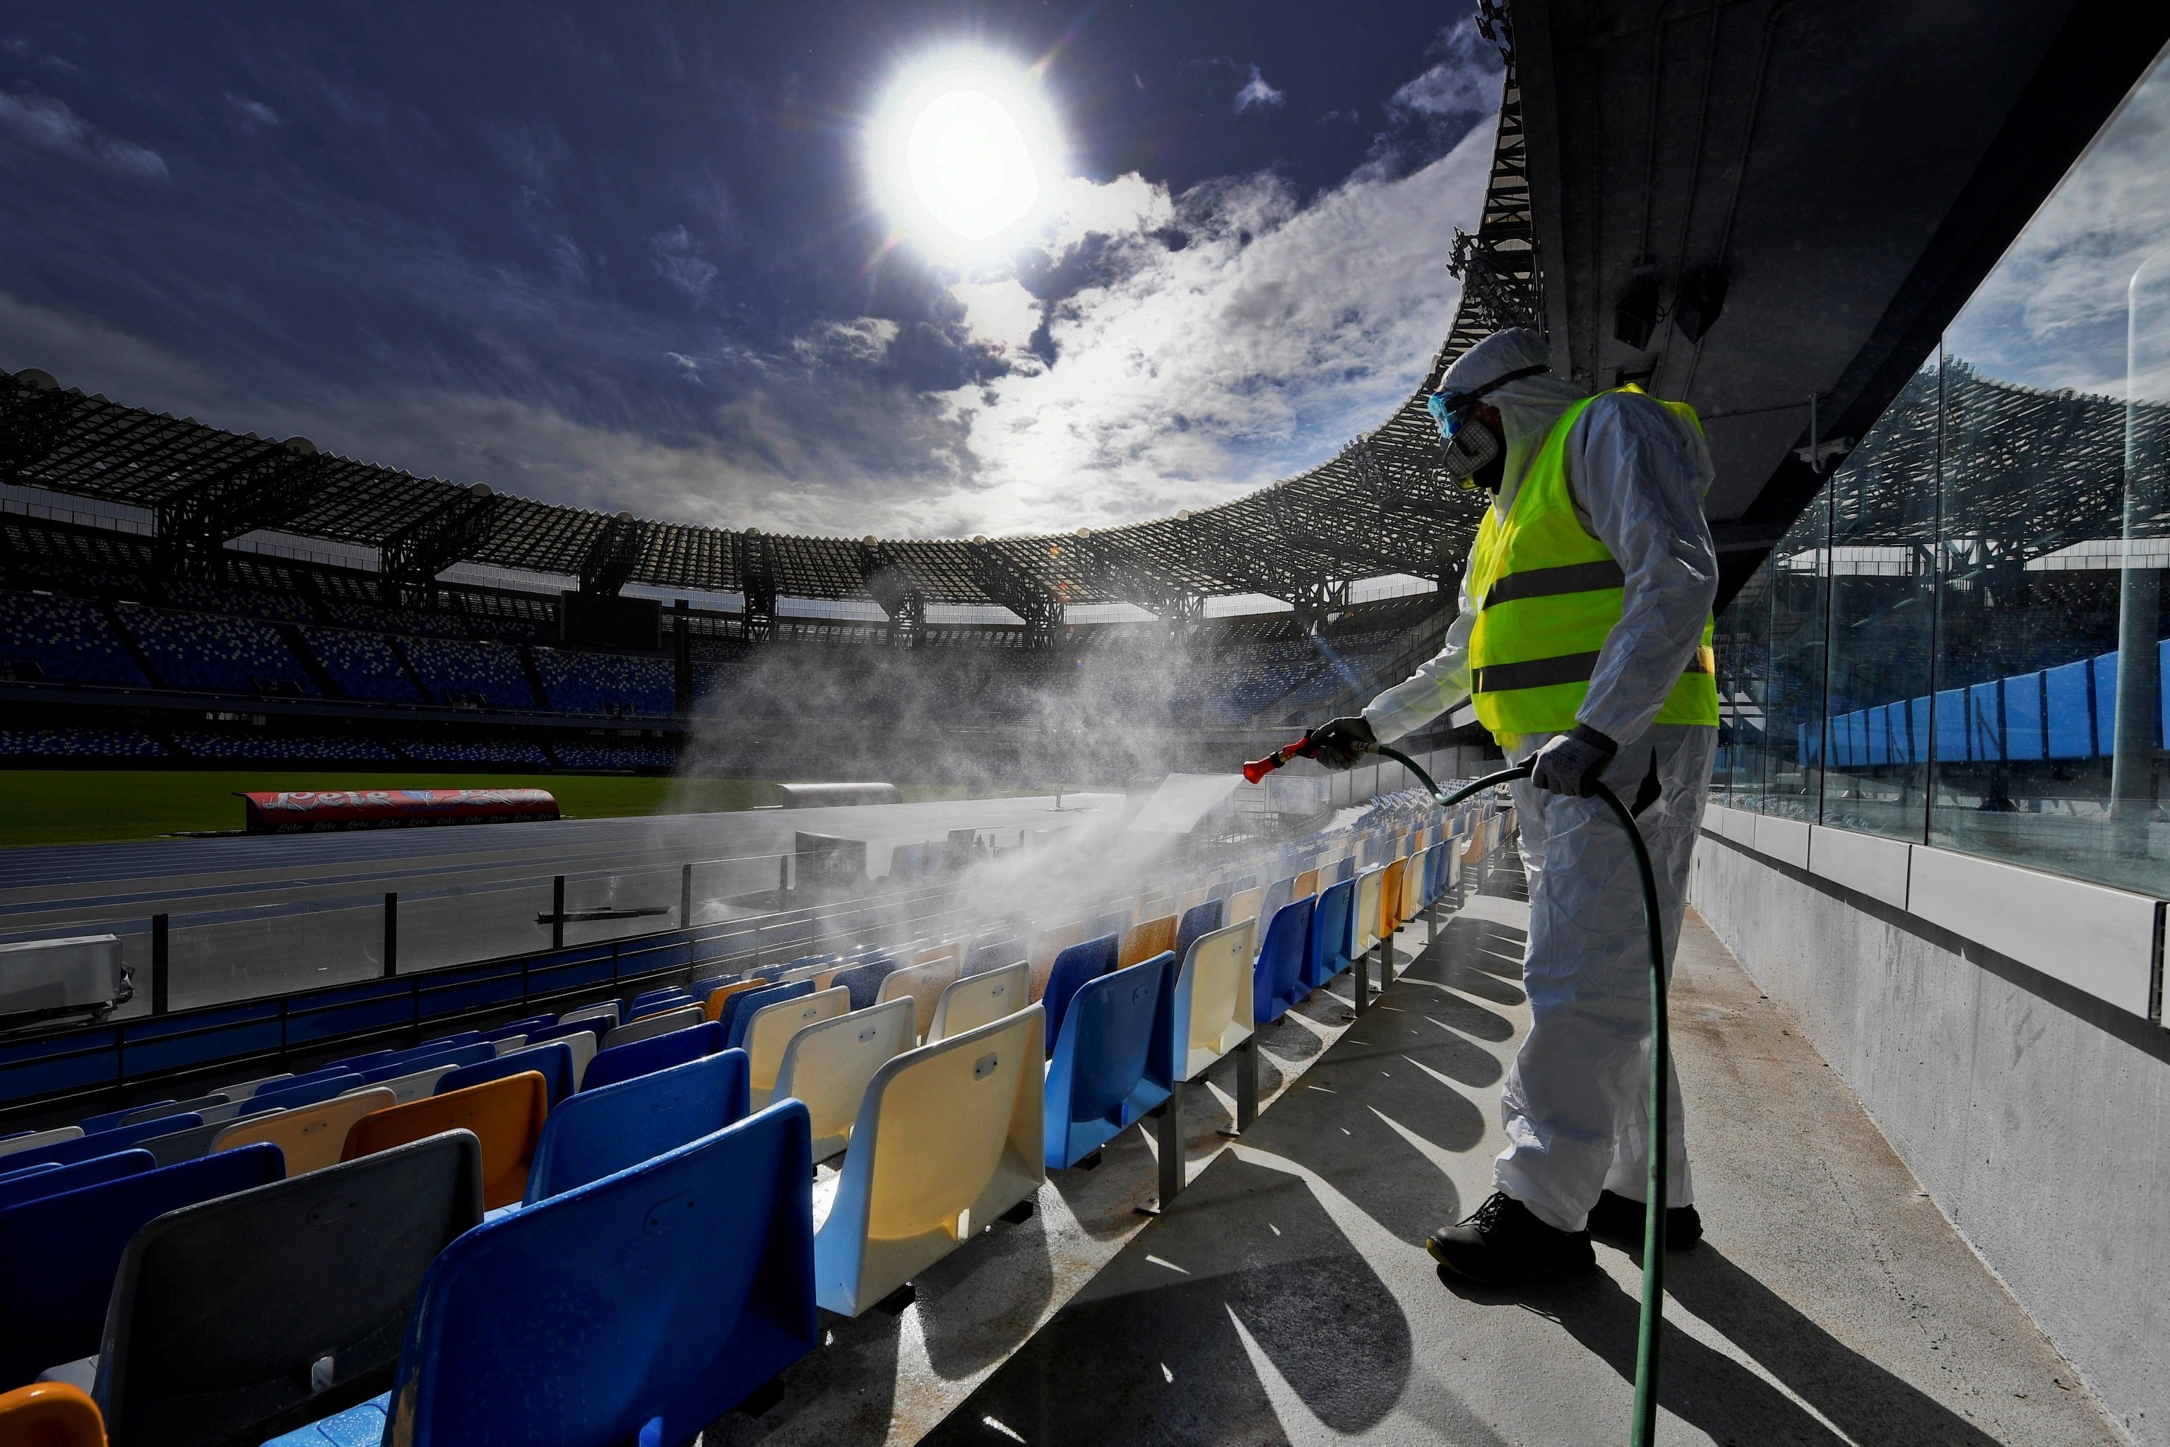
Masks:
[[[866,176],[959,43],[1042,61],[1070,163],[970,267]],[[697,523],[1152,516],[1406,397],[1497,87],[1434,4],[17,13],[0,367]]]

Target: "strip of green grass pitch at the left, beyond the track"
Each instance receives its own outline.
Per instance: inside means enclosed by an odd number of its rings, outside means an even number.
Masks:
[[[241,829],[239,790],[549,790],[566,818],[751,809],[775,796],[755,779],[653,779],[627,774],[386,774],[295,768],[0,770],[0,848],[156,840],[191,829]],[[970,790],[903,785],[905,798],[957,798]]]

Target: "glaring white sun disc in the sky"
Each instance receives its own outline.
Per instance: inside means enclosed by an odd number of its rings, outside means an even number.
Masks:
[[[875,197],[944,262],[1000,256],[1046,213],[1061,156],[1033,67],[983,50],[922,56],[866,128]]]

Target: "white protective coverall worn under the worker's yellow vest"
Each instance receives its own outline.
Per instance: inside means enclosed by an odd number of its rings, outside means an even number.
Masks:
[[[1445,386],[1478,388],[1547,360],[1536,332],[1497,332],[1454,362]],[[1484,397],[1499,408],[1506,432],[1506,479],[1493,503],[1502,514],[1512,508],[1539,443],[1580,397],[1580,388],[1552,373],[1508,382]],[[1671,972],[1719,731],[1654,725],[1651,718],[1701,642],[1719,588],[1716,549],[1703,518],[1710,451],[1656,401],[1606,395],[1575,419],[1565,462],[1575,516],[1628,575],[1621,620],[1599,651],[1578,718],[1621,744],[1601,774],[1621,801],[1634,807],[1636,794],[1649,792],[1645,781],[1656,777],[1658,798],[1636,824],[1658,874]],[[1473,623],[1465,573],[1460,616],[1445,646],[1415,677],[1365,707],[1380,742],[1469,696]],[[1552,738],[1521,735],[1515,759],[1528,759]],[[1512,794],[1530,879],[1523,985],[1532,1022],[1499,1100],[1508,1148],[1493,1178],[1541,1221],[1582,1230],[1599,1189],[1630,1200],[1645,1195],[1649,944],[1643,887],[1619,822],[1595,798],[1543,792],[1528,779],[1517,781]],[[1667,1204],[1686,1206],[1695,1185],[1677,1076],[1669,1102]]]

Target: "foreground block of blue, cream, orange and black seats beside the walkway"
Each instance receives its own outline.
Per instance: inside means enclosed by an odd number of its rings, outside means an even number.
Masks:
[[[814,1345],[814,1304],[859,1315],[1029,1213],[1048,1169],[1150,1113],[1170,1130],[1185,1080],[1391,939],[1478,842],[1419,827],[1387,863],[1337,861],[1324,872],[1350,876],[1324,889],[1311,872],[1185,894],[1180,913],[1144,898],[1120,931],[1059,948],[1109,915],[1026,946],[794,961],[87,1119],[0,1174],[0,1280],[30,1291],[0,1306],[0,1386],[48,1373],[39,1410],[80,1386],[115,1443],[286,1427],[310,1447],[380,1430],[473,1440],[475,1423],[519,1412],[549,1440],[679,1440]],[[237,1128],[258,1135],[228,1139]],[[152,1150],[206,1130],[193,1156]],[[1165,1141],[1170,1198],[1183,1152]],[[816,1230],[809,1167],[835,1154]],[[684,1219],[662,1189],[681,1178],[707,1182],[686,1187]],[[716,1295],[720,1239],[760,1245]],[[673,1256],[688,1247],[707,1256]],[[564,1302],[590,1299],[590,1265],[595,1291],[618,1280],[599,1252],[653,1258],[653,1278],[634,1273],[655,1282],[627,1308],[638,1321],[564,1319]],[[362,1276],[384,1293],[343,1295]],[[681,1306],[699,1315],[684,1304],[694,1280],[716,1310],[679,1321]],[[488,1354],[523,1362],[519,1401]],[[263,1375],[237,1378],[237,1360]],[[299,1425],[332,1408],[352,1410]]]

